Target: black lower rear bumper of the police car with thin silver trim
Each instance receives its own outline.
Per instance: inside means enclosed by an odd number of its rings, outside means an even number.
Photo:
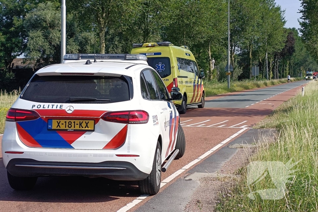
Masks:
[[[11,159],[8,172],[18,177],[45,175],[100,176],[111,180],[135,181],[146,179],[146,174],[126,161],[104,161],[100,163],[37,161],[26,158]]]

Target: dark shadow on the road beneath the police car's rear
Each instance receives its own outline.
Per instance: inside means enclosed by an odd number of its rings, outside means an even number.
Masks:
[[[139,195],[135,181],[112,181],[101,177],[77,176],[39,177],[32,190],[16,191],[10,187],[7,171],[0,160],[0,201],[109,202],[120,197],[138,197]]]

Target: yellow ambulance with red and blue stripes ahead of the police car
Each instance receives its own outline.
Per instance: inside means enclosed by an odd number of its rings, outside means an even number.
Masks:
[[[148,64],[158,72],[169,92],[172,87],[180,89],[183,99],[173,102],[179,113],[186,113],[187,106],[204,107],[204,72],[199,71],[189,47],[168,41],[133,44],[131,53],[146,55]]]

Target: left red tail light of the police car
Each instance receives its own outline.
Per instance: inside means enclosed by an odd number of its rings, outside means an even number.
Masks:
[[[36,120],[38,118],[40,118],[40,115],[34,110],[10,108],[5,120],[6,121],[30,121],[30,120]]]

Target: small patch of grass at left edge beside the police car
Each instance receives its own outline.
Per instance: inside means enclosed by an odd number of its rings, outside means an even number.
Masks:
[[[19,91],[0,91],[0,134],[3,133],[7,111],[18,98]]]

